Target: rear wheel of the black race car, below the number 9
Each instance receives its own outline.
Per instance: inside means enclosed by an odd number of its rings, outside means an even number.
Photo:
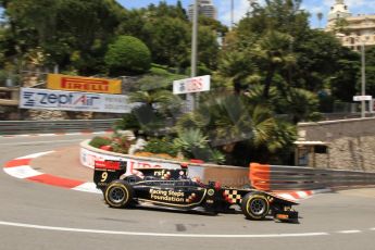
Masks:
[[[133,187],[121,179],[108,185],[104,191],[104,200],[111,208],[126,208],[130,204],[134,197]]]

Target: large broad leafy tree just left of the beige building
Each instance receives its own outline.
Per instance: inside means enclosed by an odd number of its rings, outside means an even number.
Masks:
[[[285,99],[283,107],[287,108],[297,101],[290,91],[293,88],[317,93],[335,86],[334,97],[349,100],[353,93],[352,83],[358,79],[358,59],[332,34],[311,29],[309,15],[299,10],[300,3],[296,0],[268,0],[265,5],[254,3],[248,16],[227,35],[229,39],[223,48],[218,70],[233,82],[237,93],[262,84],[263,97],[270,98],[271,86],[275,86],[277,96]],[[348,95],[339,86],[347,86]],[[316,101],[316,96],[309,96],[311,101]],[[274,107],[280,112],[278,105]],[[284,109],[284,112],[288,110],[293,111]],[[301,118],[297,113],[292,116],[295,121]]]

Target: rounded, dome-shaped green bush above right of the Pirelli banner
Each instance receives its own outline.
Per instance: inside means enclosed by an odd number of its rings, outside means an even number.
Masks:
[[[151,52],[138,38],[120,36],[104,58],[112,75],[142,74],[151,67]]]

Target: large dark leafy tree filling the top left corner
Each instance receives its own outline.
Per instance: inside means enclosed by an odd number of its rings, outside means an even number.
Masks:
[[[114,0],[10,0],[2,4],[10,30],[8,57],[24,60],[24,53],[40,47],[49,55],[47,65],[73,66],[82,74],[103,71],[107,45],[123,14]]]

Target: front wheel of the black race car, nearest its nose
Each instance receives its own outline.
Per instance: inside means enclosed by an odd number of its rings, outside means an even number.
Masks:
[[[241,209],[247,218],[260,221],[270,213],[270,202],[261,193],[248,193],[242,199]]]

